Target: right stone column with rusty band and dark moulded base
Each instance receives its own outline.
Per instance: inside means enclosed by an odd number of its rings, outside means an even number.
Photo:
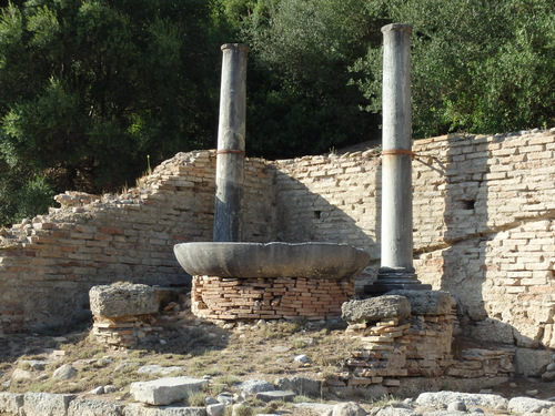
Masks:
[[[371,292],[430,290],[413,267],[410,24],[384,26],[382,264]]]

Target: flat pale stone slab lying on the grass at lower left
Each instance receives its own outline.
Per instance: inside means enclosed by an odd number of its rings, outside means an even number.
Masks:
[[[130,393],[137,402],[163,406],[185,399],[200,392],[208,384],[205,379],[192,377],[168,377],[152,382],[131,383]]]

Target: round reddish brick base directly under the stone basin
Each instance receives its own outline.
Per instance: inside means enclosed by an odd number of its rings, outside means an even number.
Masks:
[[[225,278],[193,276],[191,310],[211,321],[320,321],[341,316],[352,278]]]

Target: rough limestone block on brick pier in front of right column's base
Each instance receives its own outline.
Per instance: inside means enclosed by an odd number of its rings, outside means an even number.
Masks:
[[[406,297],[384,295],[362,301],[349,301],[341,306],[341,318],[351,323],[375,322],[411,315],[411,303]]]

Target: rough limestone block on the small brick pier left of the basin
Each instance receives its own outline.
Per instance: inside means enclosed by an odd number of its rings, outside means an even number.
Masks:
[[[93,315],[118,317],[158,312],[154,288],[143,284],[93,286],[89,291]]]

